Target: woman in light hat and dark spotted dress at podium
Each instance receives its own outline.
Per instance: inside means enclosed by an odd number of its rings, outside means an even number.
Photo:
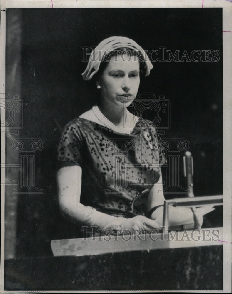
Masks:
[[[103,40],[82,74],[95,78],[97,105],[69,122],[58,147],[61,210],[80,225],[121,233],[160,229],[161,165],[155,126],[131,114],[141,76],[153,68],[146,52],[126,37]],[[191,209],[170,208],[170,226],[201,226]],[[91,230],[91,229],[90,229]]]

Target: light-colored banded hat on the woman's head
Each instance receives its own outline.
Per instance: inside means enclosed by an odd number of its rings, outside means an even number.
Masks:
[[[145,76],[148,76],[150,74],[150,70],[153,69],[153,65],[151,64],[146,51],[144,51],[143,48],[132,39],[126,37],[110,37],[101,41],[101,43],[99,43],[99,45],[93,50],[92,54],[90,55],[86,70],[81,74],[83,79],[91,80],[93,75],[96,74],[96,72],[99,70],[99,66],[103,57],[106,54],[109,54],[111,51],[122,47],[141,52],[146,65]]]

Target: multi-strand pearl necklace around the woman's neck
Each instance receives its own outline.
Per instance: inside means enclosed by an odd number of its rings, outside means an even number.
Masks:
[[[107,128],[111,129],[112,131],[115,131],[117,133],[126,133],[130,134],[131,129],[128,123],[128,116],[129,116],[129,111],[126,109],[126,119],[125,119],[125,124],[122,127],[116,126],[114,123],[112,123],[104,114],[101,112],[99,107],[97,105],[94,105],[92,107],[92,111],[96,118],[103,123]]]

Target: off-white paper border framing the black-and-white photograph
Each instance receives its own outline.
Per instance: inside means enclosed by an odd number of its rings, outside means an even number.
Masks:
[[[171,1],[171,0],[144,0],[144,1],[23,1],[23,0],[7,0],[1,1],[1,91],[5,93],[5,40],[6,40],[6,8],[223,8],[223,291],[198,291],[203,293],[229,293],[231,292],[231,141],[232,141],[232,1],[231,0],[188,0],[188,1]],[[5,121],[5,111],[1,109],[1,122]],[[1,132],[1,163],[5,163],[5,132]],[[1,168],[1,181],[5,179],[5,168]],[[5,185],[1,185],[1,293],[9,293],[4,291],[4,192]],[[33,293],[38,291],[11,291],[10,293]],[[40,291],[40,293],[79,293],[86,291]],[[88,291],[90,292],[90,291]],[[109,292],[109,291],[96,291]],[[110,291],[118,292],[118,291]],[[127,292],[127,291],[120,291]],[[132,291],[129,291],[132,292]],[[150,291],[141,291],[150,292]],[[160,291],[152,291],[160,292]],[[166,292],[185,292],[185,291],[166,291]],[[196,292],[196,291],[187,291]]]

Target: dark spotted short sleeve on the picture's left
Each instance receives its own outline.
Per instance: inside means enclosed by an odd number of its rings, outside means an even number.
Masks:
[[[75,123],[68,123],[61,134],[58,151],[58,161],[70,162],[78,166],[83,163],[83,139],[80,128]]]

